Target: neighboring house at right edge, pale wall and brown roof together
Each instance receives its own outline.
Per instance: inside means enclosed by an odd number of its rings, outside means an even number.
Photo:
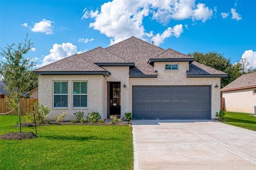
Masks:
[[[256,72],[242,75],[221,92],[226,111],[256,114]]]

